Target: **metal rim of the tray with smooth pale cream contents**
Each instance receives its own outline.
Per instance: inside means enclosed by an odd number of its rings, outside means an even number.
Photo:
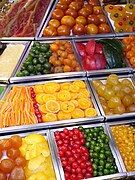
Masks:
[[[15,65],[15,68],[13,70],[13,72],[11,73],[10,77],[13,76],[13,74],[15,73],[15,71],[18,69],[18,66],[19,64],[21,63],[26,51],[27,51],[27,48],[29,47],[29,42],[28,41],[1,41],[2,44],[13,44],[13,45],[16,45],[16,44],[23,44],[25,47],[24,47],[24,50],[20,56],[20,58],[18,59],[18,62],[17,64]],[[4,83],[7,83],[9,84],[9,79],[10,77],[0,77],[0,82],[4,82]]]

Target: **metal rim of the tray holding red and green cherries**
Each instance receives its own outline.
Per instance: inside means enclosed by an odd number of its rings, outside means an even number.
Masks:
[[[104,123],[99,123],[99,124],[93,124],[93,125],[84,125],[83,127],[84,128],[90,128],[90,127],[99,127],[99,126],[102,126],[104,128],[104,132],[107,134],[107,136],[109,137],[109,134],[108,134],[108,131],[106,129],[106,126]],[[76,128],[77,126],[72,126],[72,127],[66,127],[68,128],[69,130],[73,129],[73,128]],[[63,128],[60,128],[60,129],[52,129],[50,130],[50,134],[51,134],[51,139],[52,139],[52,143],[54,144],[54,151],[55,151],[55,156],[56,156],[56,160],[58,162],[58,167],[59,167],[59,171],[60,171],[60,174],[61,174],[61,179],[64,180],[64,171],[63,171],[63,168],[62,168],[62,163],[61,163],[61,160],[58,156],[58,148],[57,148],[57,144],[56,144],[56,141],[55,141],[55,136],[54,136],[54,132],[55,131],[62,131]],[[115,174],[112,174],[112,175],[105,175],[105,176],[99,176],[99,177],[93,177],[93,178],[90,178],[90,179],[93,179],[93,180],[105,180],[105,179],[123,179],[124,177],[126,177],[126,173],[123,172],[122,170],[122,167],[121,167],[121,164],[119,163],[118,161],[118,158],[117,158],[117,155],[116,155],[116,152],[114,150],[114,147],[113,147],[113,142],[112,142],[112,139],[109,137],[109,145],[110,145],[110,149],[112,151],[112,154],[115,158],[115,161],[116,161],[116,166],[118,168],[118,173],[115,173]]]

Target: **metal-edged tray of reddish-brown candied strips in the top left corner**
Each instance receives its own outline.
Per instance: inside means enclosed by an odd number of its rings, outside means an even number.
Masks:
[[[34,40],[53,3],[53,0],[2,1],[0,40]]]

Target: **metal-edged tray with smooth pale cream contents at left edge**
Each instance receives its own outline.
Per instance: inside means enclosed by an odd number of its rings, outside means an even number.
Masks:
[[[29,47],[29,42],[2,41],[0,45],[0,82],[9,83]]]

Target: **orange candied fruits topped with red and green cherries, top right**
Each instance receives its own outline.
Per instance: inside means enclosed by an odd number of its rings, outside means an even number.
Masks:
[[[123,5],[108,4],[105,6],[115,32],[134,32],[135,31],[135,5],[127,3]]]

